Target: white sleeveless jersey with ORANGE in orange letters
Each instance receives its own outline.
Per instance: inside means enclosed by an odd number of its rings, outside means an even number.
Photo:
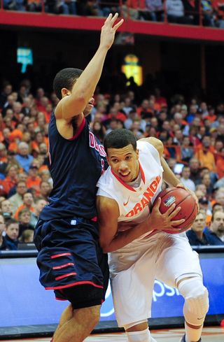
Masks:
[[[150,207],[161,191],[162,166],[158,150],[146,141],[137,141],[141,183],[131,187],[123,182],[111,166],[99,178],[97,195],[115,199],[120,209],[120,221],[142,222],[150,214]],[[102,190],[102,192],[101,192]]]

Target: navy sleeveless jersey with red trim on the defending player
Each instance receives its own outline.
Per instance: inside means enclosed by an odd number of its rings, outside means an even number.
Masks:
[[[53,111],[49,124],[50,174],[53,189],[41,220],[97,216],[95,197],[97,181],[107,168],[103,145],[90,131],[85,118],[71,139],[59,134]]]

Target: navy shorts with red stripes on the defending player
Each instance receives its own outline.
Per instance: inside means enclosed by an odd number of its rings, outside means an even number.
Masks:
[[[104,290],[107,282],[104,285],[102,271],[106,271],[106,255],[99,248],[97,230],[86,222],[77,225],[70,222],[52,220],[43,222],[38,229],[38,236],[44,236],[37,257],[41,284],[49,290],[76,285],[92,285]]]

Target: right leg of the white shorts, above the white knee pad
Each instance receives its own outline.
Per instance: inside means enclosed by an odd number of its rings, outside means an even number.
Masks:
[[[202,276],[199,255],[193,251],[186,233],[164,234],[160,245],[155,278],[169,286],[176,287],[176,279],[182,275],[198,273]]]

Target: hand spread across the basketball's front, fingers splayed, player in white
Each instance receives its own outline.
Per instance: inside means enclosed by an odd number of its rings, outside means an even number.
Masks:
[[[161,199],[158,198],[158,203],[155,204],[153,207],[153,210],[151,212],[151,216],[148,218],[150,225],[153,226],[153,229],[159,229],[159,230],[169,230],[169,231],[179,231],[179,228],[175,228],[175,226],[181,225],[181,223],[185,222],[184,219],[176,220],[173,219],[179,213],[181,210],[181,206],[178,206],[177,208],[175,204],[172,204],[172,206],[166,211],[166,213],[161,214],[160,213],[160,204]]]

